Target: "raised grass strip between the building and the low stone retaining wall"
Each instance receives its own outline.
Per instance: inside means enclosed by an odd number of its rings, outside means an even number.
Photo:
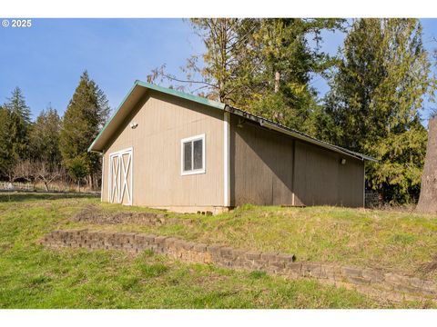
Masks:
[[[96,203],[96,210],[119,206]],[[124,207],[123,211],[150,211]],[[217,216],[178,215],[192,223],[161,226],[132,223],[71,223],[75,227],[177,236],[200,243],[294,253],[299,262],[340,263],[414,275],[437,282],[437,216],[338,207],[281,208],[246,205]],[[437,264],[436,264],[437,266]]]

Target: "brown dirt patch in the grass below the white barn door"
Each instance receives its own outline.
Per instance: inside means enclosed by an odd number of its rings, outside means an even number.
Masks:
[[[108,213],[96,205],[88,205],[76,213],[71,220],[82,223],[117,224],[135,223],[147,226],[160,226],[163,224],[191,224],[191,219],[168,218],[167,213]]]

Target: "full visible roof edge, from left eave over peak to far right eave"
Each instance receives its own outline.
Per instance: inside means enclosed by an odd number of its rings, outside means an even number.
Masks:
[[[93,141],[93,143],[88,147],[88,152],[93,151],[93,147],[95,146],[95,144],[97,143],[97,140],[102,136],[102,134],[105,133],[107,126],[109,126],[114,118],[117,116],[117,114],[119,113],[120,109],[123,107],[123,104],[126,103],[127,99],[129,98],[129,96],[134,92],[134,90],[137,88],[137,86],[141,86],[144,87],[148,90],[153,90],[153,91],[157,91],[160,93],[164,93],[164,94],[170,94],[170,95],[174,95],[177,96],[179,98],[182,99],[186,99],[188,101],[193,101],[196,102],[198,104],[205,104],[208,105],[210,107],[219,109],[219,110],[223,110],[223,111],[227,111],[231,114],[239,114],[249,120],[252,120],[254,122],[259,123],[261,126],[264,124],[269,124],[270,126],[273,126],[275,128],[275,130],[278,130],[280,133],[282,134],[291,134],[292,136],[295,136],[297,138],[299,138],[300,140],[306,141],[310,144],[316,144],[319,145],[321,147],[324,147],[326,149],[330,149],[331,151],[335,151],[335,152],[339,152],[341,154],[347,154],[349,156],[355,157],[357,159],[361,159],[361,160],[370,160],[370,161],[377,161],[376,159],[372,158],[371,156],[365,155],[365,154],[358,154],[355,152],[352,152],[351,150],[342,148],[338,145],[333,145],[333,144],[328,144],[326,142],[320,141],[310,135],[307,134],[303,134],[299,131],[290,129],[287,126],[283,126],[281,124],[275,123],[269,119],[266,119],[264,117],[260,117],[254,114],[250,114],[246,111],[243,111],[241,109],[232,107],[228,104],[223,104],[220,103],[218,101],[213,101],[213,100],[209,100],[205,97],[202,96],[198,96],[198,95],[193,95],[193,94],[186,94],[180,91],[177,91],[175,89],[171,89],[168,87],[163,87],[163,86],[158,86],[155,84],[149,84],[146,82],[142,82],[142,81],[135,81],[134,85],[132,86],[132,88],[130,89],[129,93],[126,95],[126,97],[123,99],[123,101],[121,102],[121,104],[117,107],[117,110],[115,112],[115,114],[112,115],[112,117],[108,120],[107,124],[105,124],[105,126],[103,127],[103,129],[100,131],[99,134],[97,134],[96,139]]]

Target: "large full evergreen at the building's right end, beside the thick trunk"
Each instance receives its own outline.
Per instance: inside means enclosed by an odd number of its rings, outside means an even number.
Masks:
[[[417,19],[354,21],[325,99],[321,136],[379,159],[368,164],[368,184],[391,202],[419,194],[426,146],[420,111],[432,87]]]

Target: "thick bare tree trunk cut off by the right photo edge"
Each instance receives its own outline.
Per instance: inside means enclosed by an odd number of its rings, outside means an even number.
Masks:
[[[437,118],[429,122],[421,196],[416,210],[420,213],[437,213]]]

